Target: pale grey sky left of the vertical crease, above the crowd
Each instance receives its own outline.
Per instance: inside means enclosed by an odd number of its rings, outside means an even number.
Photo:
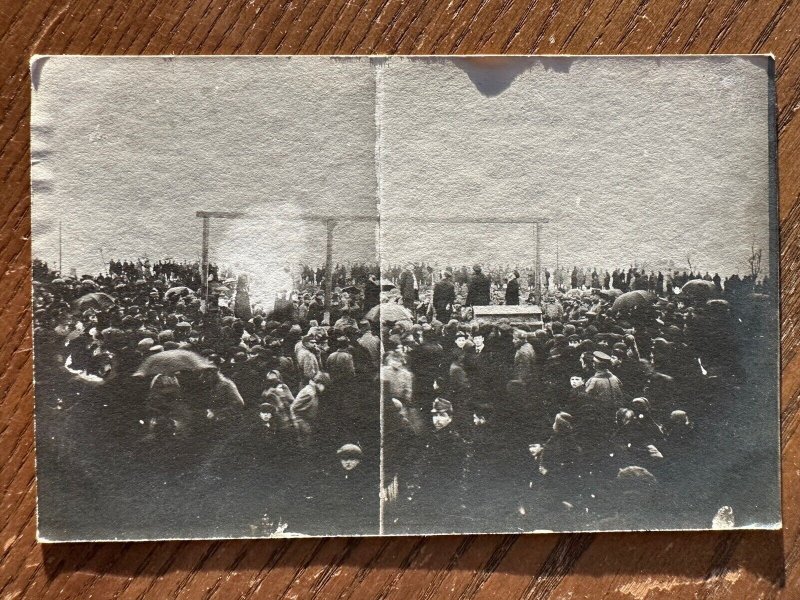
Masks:
[[[106,259],[321,262],[325,230],[300,217],[373,215],[375,80],[369,59],[51,57],[33,94],[33,252],[64,270]],[[374,228],[373,228],[374,229]],[[369,226],[336,258],[376,257]]]

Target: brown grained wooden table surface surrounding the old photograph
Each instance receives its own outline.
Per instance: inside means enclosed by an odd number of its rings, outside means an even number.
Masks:
[[[0,3],[0,599],[800,598],[798,34],[800,0]],[[777,61],[782,532],[36,543],[32,54],[708,52],[771,52]]]

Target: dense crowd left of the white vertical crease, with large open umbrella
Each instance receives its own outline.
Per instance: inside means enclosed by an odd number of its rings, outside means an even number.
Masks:
[[[362,317],[376,275],[337,287],[323,324],[319,286],[263,311],[246,276],[221,271],[206,297],[191,263],[112,261],[81,279],[35,265],[37,410],[60,413],[40,419],[40,452],[74,479],[43,499],[122,523],[144,495],[165,519],[189,502],[206,527],[227,509],[261,533],[374,533],[380,340]]]

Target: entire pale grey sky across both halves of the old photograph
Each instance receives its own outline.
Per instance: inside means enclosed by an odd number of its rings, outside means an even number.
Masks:
[[[747,270],[768,248],[765,57],[51,57],[34,64],[33,253]],[[376,88],[379,93],[376,94]],[[377,126],[376,126],[377,123]],[[378,143],[376,145],[376,139]],[[378,154],[376,157],[376,148]],[[380,184],[380,191],[379,191]],[[439,224],[435,219],[457,219]],[[250,268],[250,267],[247,267]],[[265,267],[267,268],[267,267]],[[269,268],[272,268],[271,266]]]

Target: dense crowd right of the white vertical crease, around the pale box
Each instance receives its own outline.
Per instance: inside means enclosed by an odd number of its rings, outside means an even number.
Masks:
[[[408,318],[383,331],[394,530],[430,514],[438,531],[710,525],[727,488],[712,479],[741,460],[728,416],[774,361],[759,356],[776,324],[768,280],[673,272],[659,287],[619,269],[547,288],[541,322],[482,323],[463,307],[493,292],[524,304],[518,273],[495,290],[476,265],[458,290],[445,272],[432,294],[419,286],[426,305],[403,289],[412,267],[398,278]]]

